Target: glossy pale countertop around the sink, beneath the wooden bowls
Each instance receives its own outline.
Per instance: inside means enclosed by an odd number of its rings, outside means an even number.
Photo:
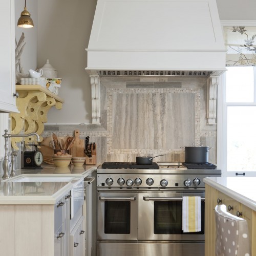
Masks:
[[[0,180],[1,204],[55,204],[75,183],[89,176],[97,165],[55,167],[46,165],[42,169],[18,169],[16,176]],[[15,182],[23,177],[73,177],[71,181]]]

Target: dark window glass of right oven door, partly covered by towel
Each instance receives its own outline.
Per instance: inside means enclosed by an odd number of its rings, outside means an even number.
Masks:
[[[201,202],[200,232],[184,233],[182,231],[182,201],[154,202],[154,233],[155,234],[204,234],[204,202]]]

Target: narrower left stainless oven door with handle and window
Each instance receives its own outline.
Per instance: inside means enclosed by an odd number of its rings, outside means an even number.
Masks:
[[[138,193],[98,192],[97,240],[138,239]]]

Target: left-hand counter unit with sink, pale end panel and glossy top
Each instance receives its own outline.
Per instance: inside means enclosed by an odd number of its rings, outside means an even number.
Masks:
[[[83,179],[96,169],[47,165],[2,179],[1,255],[84,255]]]

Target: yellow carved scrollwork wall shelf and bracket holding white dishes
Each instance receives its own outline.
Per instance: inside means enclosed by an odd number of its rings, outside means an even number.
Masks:
[[[18,98],[16,98],[16,105],[20,113],[11,113],[11,134],[29,134],[37,133],[39,136],[44,132],[47,122],[47,113],[55,106],[57,110],[62,109],[64,102],[56,94],[42,86],[16,86]],[[40,136],[42,141],[42,137]],[[25,138],[11,138],[11,144],[14,150],[18,150],[17,142],[25,140],[25,144],[35,142],[35,136]],[[33,143],[32,143],[33,144]]]

